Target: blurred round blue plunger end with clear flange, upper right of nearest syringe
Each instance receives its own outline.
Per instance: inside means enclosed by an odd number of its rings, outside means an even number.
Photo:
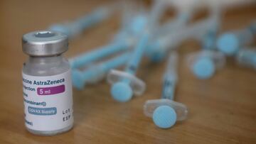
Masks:
[[[193,64],[193,74],[199,79],[208,79],[213,76],[215,65],[209,57],[201,57]]]

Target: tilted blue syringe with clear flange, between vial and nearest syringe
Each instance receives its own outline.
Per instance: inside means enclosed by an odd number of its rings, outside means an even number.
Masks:
[[[142,18],[146,17],[143,16]],[[147,20],[145,19],[145,21]],[[146,27],[146,23],[144,27]],[[142,80],[138,79],[135,74],[144,54],[149,36],[149,31],[144,29],[131,57],[128,60],[124,72],[111,70],[109,74],[107,74],[107,82],[112,84],[111,94],[115,100],[126,102],[132,99],[134,94],[141,95],[144,93],[146,85]]]

